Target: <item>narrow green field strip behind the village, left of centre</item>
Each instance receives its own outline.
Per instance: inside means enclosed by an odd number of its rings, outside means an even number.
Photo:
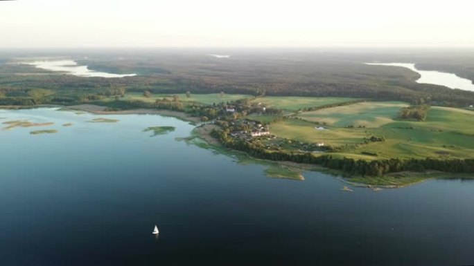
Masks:
[[[179,97],[180,101],[183,102],[198,102],[200,104],[213,104],[213,103],[220,103],[220,102],[231,102],[236,101],[238,99],[245,99],[253,97],[252,95],[243,95],[243,94],[224,94],[220,95],[220,93],[209,93],[209,94],[193,94],[191,93],[191,97],[186,97],[185,93],[178,93],[176,94]],[[167,98],[172,100],[172,94],[152,94],[151,97],[143,96],[143,93],[126,93],[124,97],[121,97],[120,100],[123,101],[130,101],[130,100],[137,100],[143,102],[155,102],[156,99],[163,99]],[[114,97],[108,97],[103,99],[105,102],[113,101]]]

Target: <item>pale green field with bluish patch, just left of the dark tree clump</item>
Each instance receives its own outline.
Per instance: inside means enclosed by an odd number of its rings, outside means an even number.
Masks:
[[[400,108],[406,106],[403,102],[360,102],[305,112],[298,117],[331,126],[378,127],[394,122]]]

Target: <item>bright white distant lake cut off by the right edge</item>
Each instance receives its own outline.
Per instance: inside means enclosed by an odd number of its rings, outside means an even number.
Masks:
[[[428,71],[428,70],[419,70],[415,67],[415,64],[405,64],[405,63],[378,63],[372,64],[367,63],[368,65],[376,66],[401,66],[413,70],[416,73],[419,73],[421,77],[416,80],[418,83],[428,83],[428,84],[437,84],[441,86],[446,86],[448,88],[459,88],[464,91],[474,91],[474,84],[469,79],[464,79],[458,77],[452,73],[444,73],[439,71]]]

